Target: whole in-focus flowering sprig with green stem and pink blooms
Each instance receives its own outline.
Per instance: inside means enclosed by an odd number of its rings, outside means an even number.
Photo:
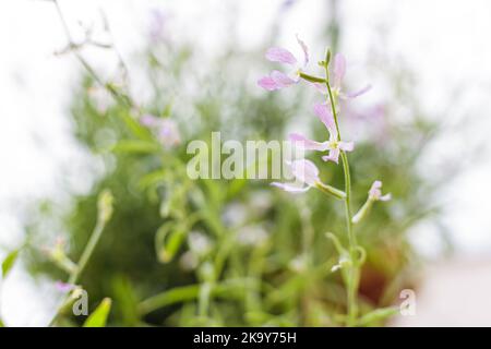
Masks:
[[[297,40],[304,53],[304,68],[309,62],[308,48],[306,44],[298,37]],[[266,52],[266,58],[270,61],[282,62],[286,64],[295,64],[297,62],[297,59],[290,51],[277,47],[271,48]],[[354,225],[359,224],[368,215],[368,212],[374,202],[388,201],[391,200],[391,194],[382,195],[382,182],[375,180],[368,192],[368,198],[366,203],[355,215],[352,214],[351,176],[347,153],[354,151],[355,144],[354,142],[347,142],[342,139],[342,133],[339,130],[339,99],[357,97],[367,92],[369,87],[366,87],[362,91],[354,94],[345,94],[342,89],[342,81],[346,71],[346,60],[340,53],[337,53],[334,57],[334,64],[333,69],[331,70],[331,50],[327,49],[324,60],[319,62],[319,65],[324,69],[324,76],[322,77],[308,74],[302,69],[298,69],[296,71],[296,79],[288,77],[282,72],[273,71],[268,76],[259,80],[258,84],[267,91],[275,91],[290,86],[300,82],[300,80],[303,80],[307,83],[313,85],[326,96],[325,103],[316,104],[314,106],[314,112],[318,116],[319,120],[327,129],[330,135],[328,140],[324,142],[316,142],[309,140],[298,133],[291,133],[289,135],[289,139],[296,146],[300,146],[308,151],[328,151],[328,155],[322,156],[322,159],[324,161],[333,161],[338,165],[338,159],[340,157],[345,180],[344,191],[324,184],[319,178],[320,171],[318,167],[312,161],[307,159],[297,159],[288,164],[294,177],[298,181],[307,184],[307,186],[299,188],[278,182],[273,182],[272,184],[290,193],[306,192],[310,188],[316,188],[330,195],[335,196],[336,198],[340,198],[344,201],[348,246],[344,248],[336,236],[331,232],[327,233],[326,237],[333,240],[336,250],[339,253],[339,262],[332,268],[332,270],[340,270],[344,282],[346,285],[348,308],[346,325],[355,326],[360,322],[357,294],[360,282],[360,267],[364,262],[366,251],[357,241],[357,234],[354,231]],[[393,311],[393,309],[390,309],[390,311]],[[369,314],[369,316],[371,314]],[[361,320],[361,322],[363,322],[363,320]]]

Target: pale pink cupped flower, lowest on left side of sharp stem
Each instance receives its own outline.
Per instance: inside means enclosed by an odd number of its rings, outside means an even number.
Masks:
[[[294,161],[288,161],[287,165],[297,181],[294,184],[273,182],[271,183],[272,185],[290,193],[303,193],[321,182],[319,178],[319,169],[312,161],[307,159],[297,159]]]

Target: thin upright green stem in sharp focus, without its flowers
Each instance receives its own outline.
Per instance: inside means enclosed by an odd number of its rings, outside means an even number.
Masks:
[[[330,75],[328,75],[328,65],[325,65],[325,85],[327,87],[328,100],[331,104],[331,110],[333,112],[334,122],[337,131],[337,141],[340,141],[340,132],[339,132],[339,123],[337,120],[337,111],[336,105],[334,101],[333,91],[330,84]],[[340,152],[340,158],[343,161],[343,172],[345,176],[345,215],[346,215],[346,230],[348,234],[348,243],[349,243],[349,256],[351,260],[349,270],[347,273],[348,279],[346,280],[347,288],[347,303],[348,303],[348,314],[347,322],[348,326],[354,326],[358,316],[358,302],[357,302],[357,293],[358,293],[358,285],[360,279],[360,269],[359,263],[357,258],[357,238],[352,230],[352,213],[351,213],[351,176],[349,170],[349,161],[348,156],[345,151]]]

